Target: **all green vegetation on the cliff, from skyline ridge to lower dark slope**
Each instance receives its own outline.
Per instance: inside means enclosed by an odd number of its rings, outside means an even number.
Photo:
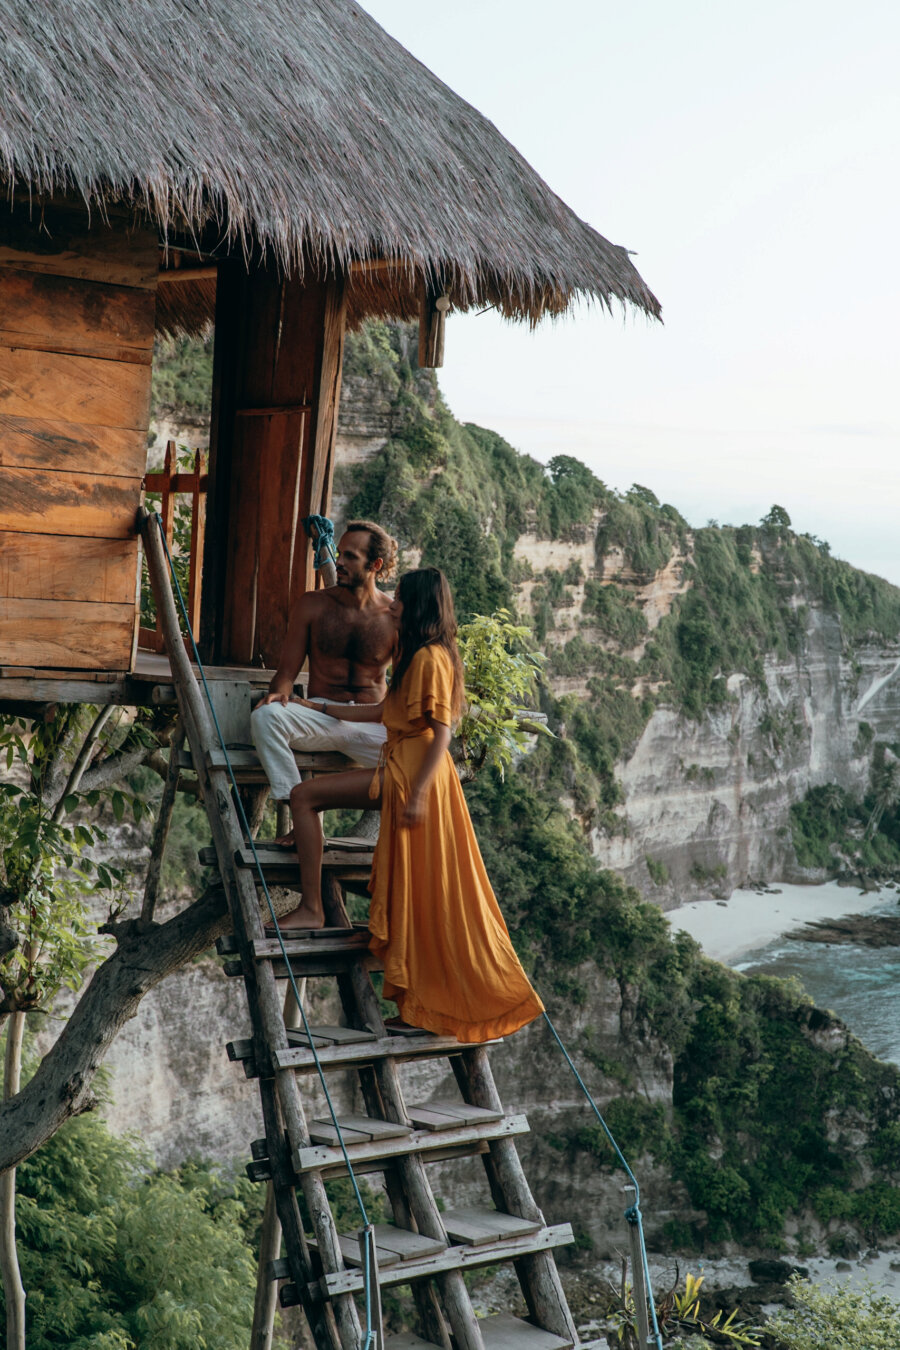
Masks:
[[[657,907],[596,865],[586,837],[588,825],[619,828],[615,764],[654,707],[698,718],[727,703],[733,674],[762,688],[765,655],[799,652],[806,605],[837,616],[850,648],[866,634],[895,639],[900,591],[796,535],[780,508],[760,525],[692,531],[646,487],[617,493],[569,456],[545,468],[501,436],[460,425],[433,374],[414,369],[403,327],[351,336],[345,377],[376,386],[391,423],[381,451],[339,470],[348,513],[379,520],[407,554],[443,567],[463,618],[513,608],[515,586],[530,582],[522,617],[546,645],[551,672],[584,680],[586,695],[544,694],[556,738],[505,780],[482,774],[467,792],[488,872],[545,995],[563,1007],[583,1002],[595,965],[622,994],[630,1037],[671,1056],[667,1112],[625,1060],[598,1057],[587,1034],[575,1045],[613,1094],[610,1120],[631,1161],[653,1157],[704,1214],[672,1227],[669,1241],[779,1246],[788,1216],[804,1214],[828,1224],[835,1249],[854,1234],[900,1233],[900,1073],[801,990],[737,975],[690,938],[672,938]],[[621,567],[611,585],[586,578],[578,559],[534,576],[515,556],[526,532],[573,547],[595,536],[598,562],[619,551]],[[661,568],[687,585],[652,628],[641,586]],[[565,633],[560,612],[575,620]],[[770,732],[789,728],[773,714]],[[810,813],[797,819],[815,840]],[[893,807],[884,822],[893,830]],[[583,1120],[559,1145],[611,1165]]]

